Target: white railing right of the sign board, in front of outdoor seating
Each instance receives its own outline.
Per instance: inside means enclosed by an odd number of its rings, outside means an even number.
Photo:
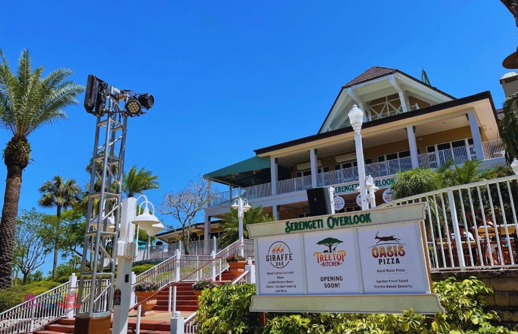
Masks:
[[[518,177],[445,188],[386,205],[426,202],[430,269],[518,266]]]

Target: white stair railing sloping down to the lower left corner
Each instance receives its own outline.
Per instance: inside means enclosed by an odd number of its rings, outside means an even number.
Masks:
[[[77,303],[80,303],[81,311],[87,310],[91,281],[84,281],[82,302],[77,298],[76,283],[76,280],[68,281],[0,313],[0,333],[31,333],[39,330],[63,316],[74,316]],[[109,284],[110,280],[104,279],[101,289],[105,290]],[[103,310],[107,307],[107,293],[106,290],[97,301],[99,305],[104,306]]]

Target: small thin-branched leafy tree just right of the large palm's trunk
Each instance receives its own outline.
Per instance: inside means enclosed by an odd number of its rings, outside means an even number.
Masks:
[[[22,210],[18,219],[13,263],[23,275],[23,284],[27,282],[27,277],[31,272],[44,264],[45,256],[49,251],[45,247],[45,238],[40,230],[40,224],[46,216],[32,208],[31,211]]]

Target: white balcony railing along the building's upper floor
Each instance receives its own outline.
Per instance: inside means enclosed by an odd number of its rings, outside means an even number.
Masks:
[[[496,159],[505,155],[505,148],[500,139],[483,142],[484,159]],[[456,164],[462,164],[476,157],[473,145],[438,150],[431,153],[423,153],[418,156],[420,168],[435,169],[453,161]],[[393,160],[387,160],[365,165],[365,174],[371,175],[373,178],[386,177],[397,174],[397,172],[406,172],[412,169],[412,158],[405,157]],[[349,182],[358,181],[357,167],[345,168],[337,171],[329,171],[319,173],[316,176],[318,187],[340,185]],[[295,191],[310,189],[311,175],[291,178],[287,180],[277,181],[277,193],[284,194]],[[228,204],[231,200],[236,199],[239,195],[246,199],[256,199],[271,196],[271,184],[266,183],[248,188],[234,189],[232,196],[229,191],[219,193],[216,198],[211,201],[211,206]]]

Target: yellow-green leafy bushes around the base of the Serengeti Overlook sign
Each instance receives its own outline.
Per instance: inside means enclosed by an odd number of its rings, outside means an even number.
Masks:
[[[223,285],[205,290],[199,298],[196,314],[200,333],[506,333],[494,311],[485,311],[484,295],[491,287],[476,278],[461,281],[449,278],[434,282],[445,314],[344,314],[344,313],[269,313],[264,328],[258,315],[250,313],[255,285]]]

